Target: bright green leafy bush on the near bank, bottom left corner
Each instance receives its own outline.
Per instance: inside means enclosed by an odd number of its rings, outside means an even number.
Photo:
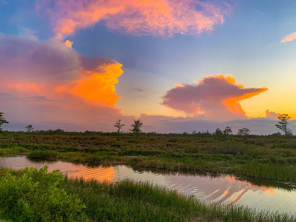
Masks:
[[[26,168],[20,177],[6,170],[0,178],[0,216],[16,221],[82,220],[85,206],[76,194],[57,187],[63,180],[57,171],[47,173],[47,166]]]

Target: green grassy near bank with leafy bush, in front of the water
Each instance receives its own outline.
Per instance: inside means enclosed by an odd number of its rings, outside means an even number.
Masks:
[[[149,183],[70,180],[46,168],[0,168],[0,219],[11,221],[294,222],[295,216],[204,204]]]

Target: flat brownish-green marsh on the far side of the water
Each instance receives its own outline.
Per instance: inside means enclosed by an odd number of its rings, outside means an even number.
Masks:
[[[0,140],[0,154],[31,152],[30,158],[74,162],[119,163],[189,172],[230,173],[238,176],[296,182],[295,139],[200,138],[187,136],[40,136]],[[125,156],[137,156],[127,158]]]

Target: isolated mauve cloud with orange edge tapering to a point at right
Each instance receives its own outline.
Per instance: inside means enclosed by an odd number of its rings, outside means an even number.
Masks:
[[[245,88],[231,76],[210,75],[198,84],[177,85],[166,93],[162,105],[188,114],[205,113],[207,118],[241,118],[245,117],[245,111],[238,102],[266,90],[265,87]]]

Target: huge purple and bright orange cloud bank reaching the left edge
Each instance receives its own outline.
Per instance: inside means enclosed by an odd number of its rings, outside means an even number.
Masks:
[[[0,36],[1,111],[14,123],[107,127],[122,116],[115,107],[121,66],[56,38]]]

